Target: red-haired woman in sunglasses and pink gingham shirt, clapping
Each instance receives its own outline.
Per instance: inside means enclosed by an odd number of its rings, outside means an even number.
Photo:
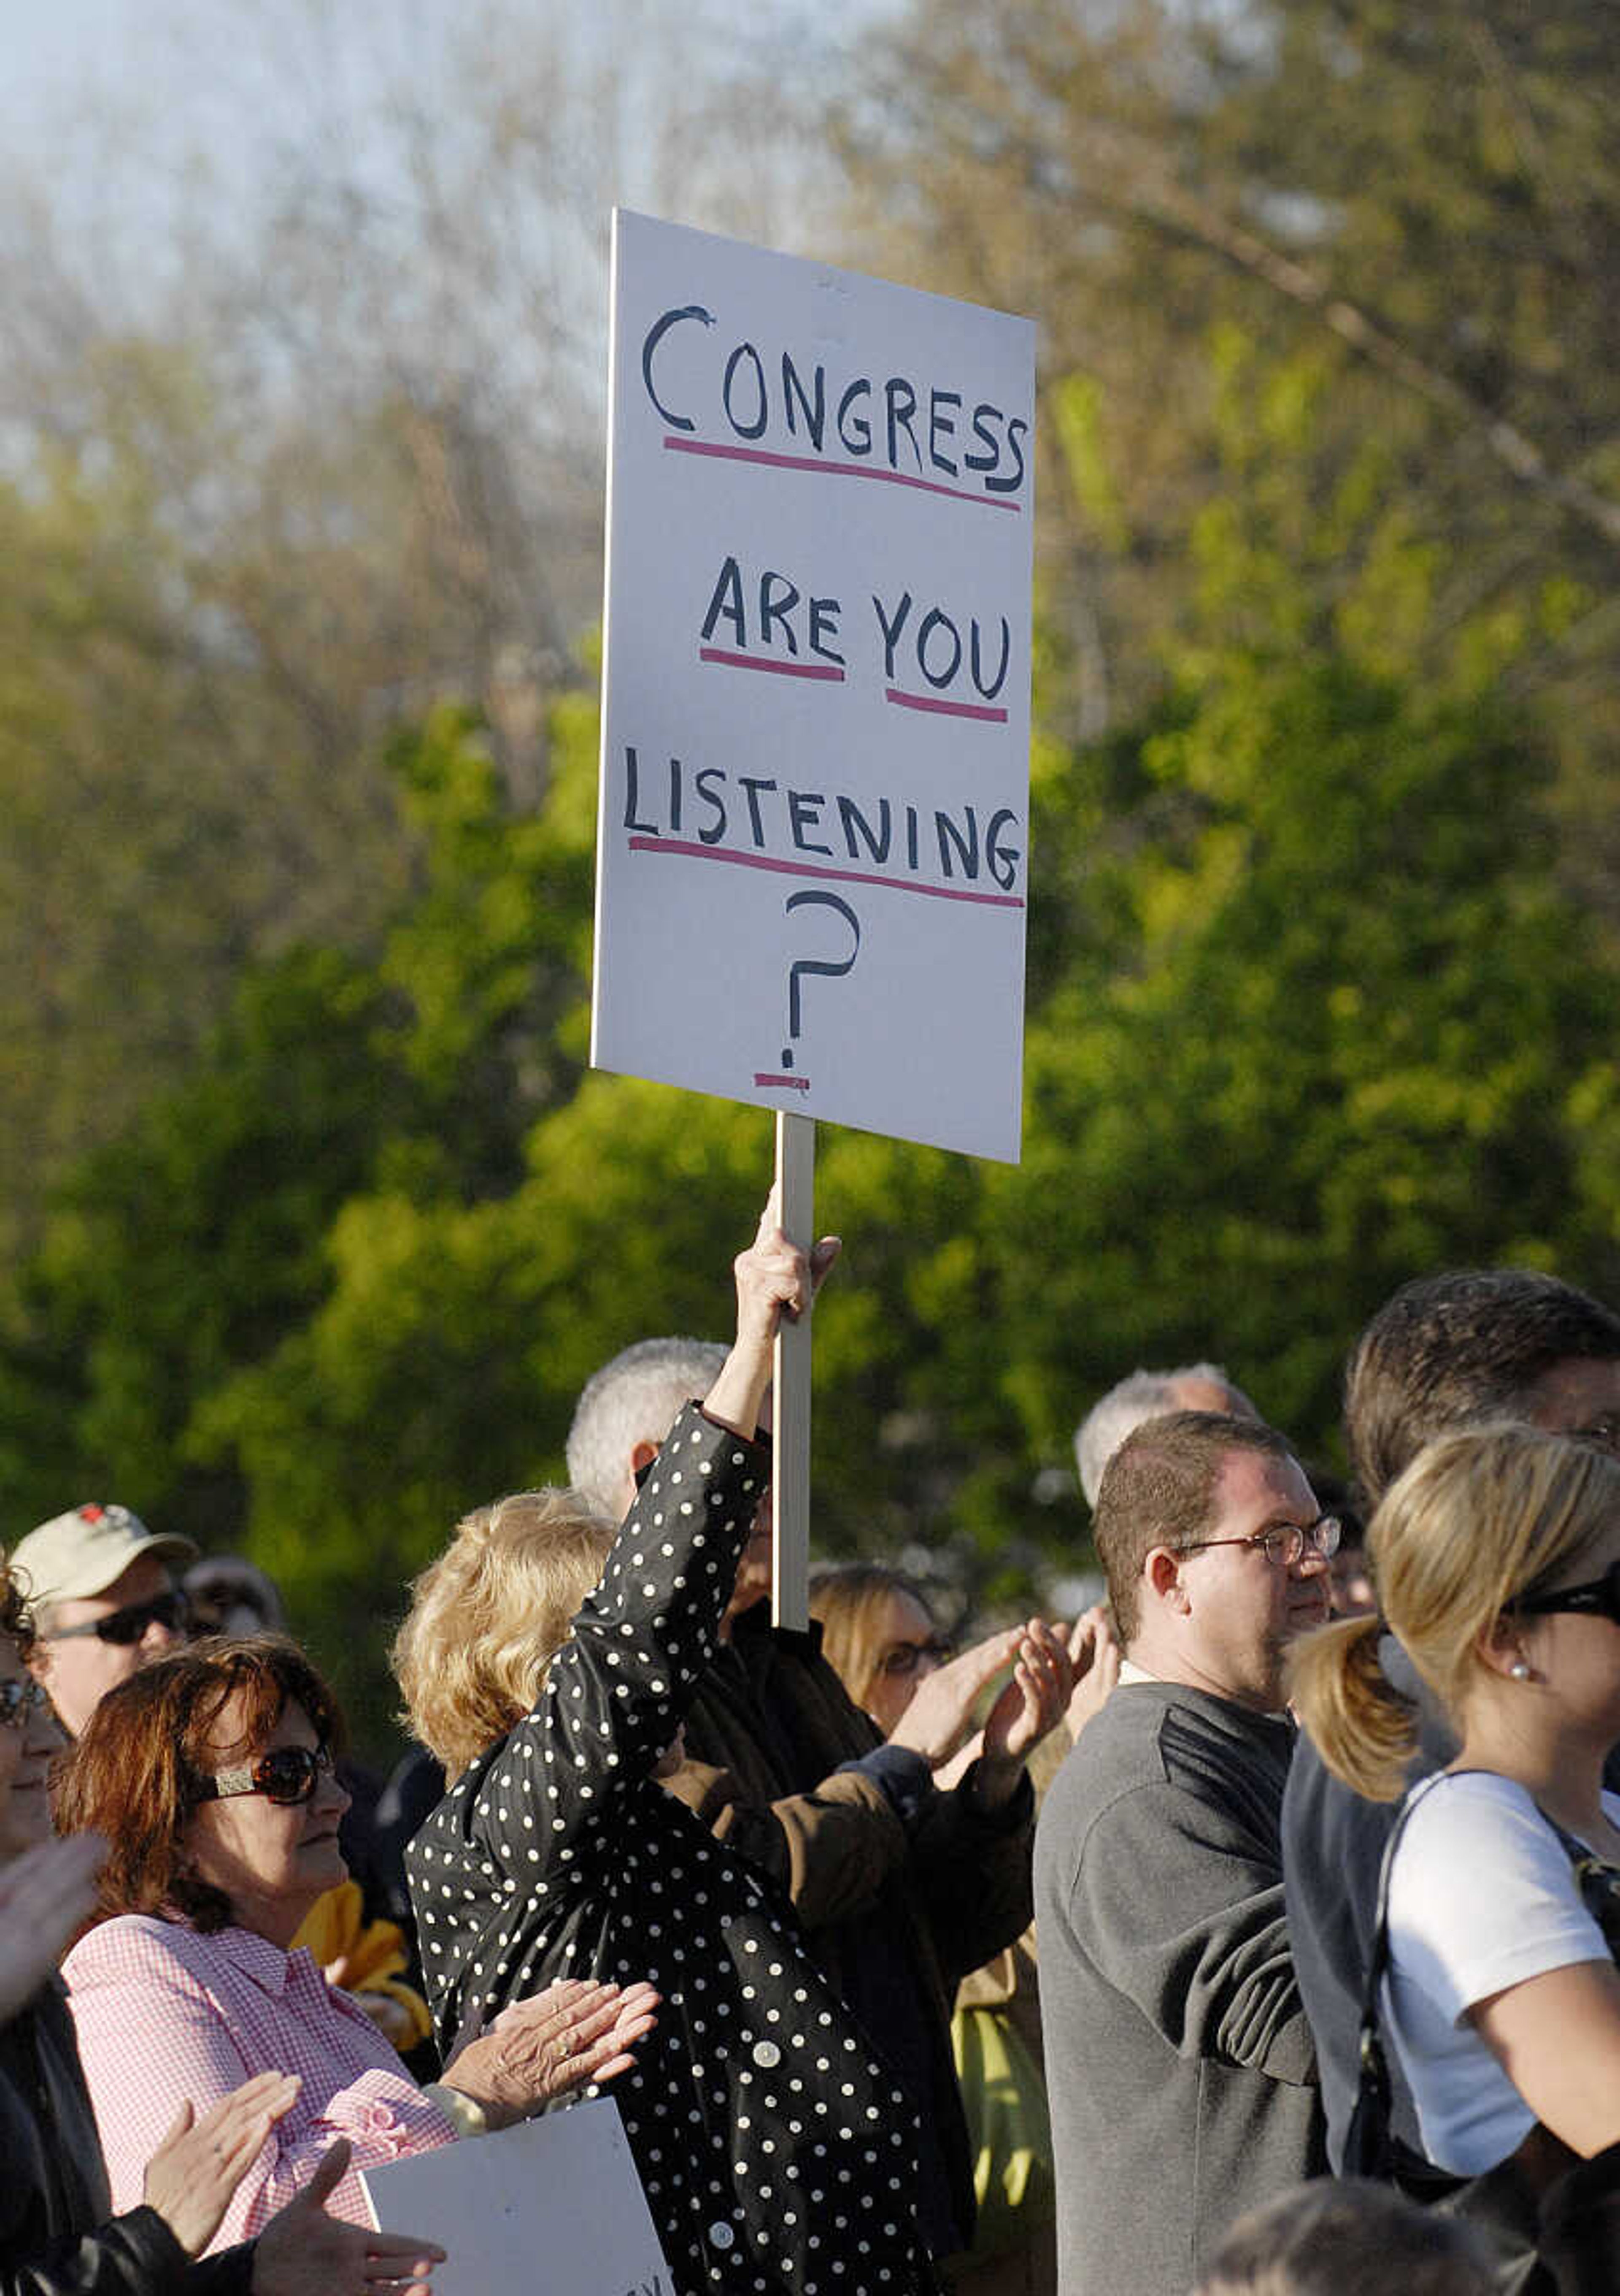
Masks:
[[[216,2245],[257,2232],[333,2138],[351,2144],[333,2213],[367,2223],[360,2170],[608,2080],[652,2025],[647,1986],[551,1986],[418,2087],[356,2002],[291,1949],[310,1906],[346,1878],[337,1743],[335,1701],[296,1644],[200,1642],[101,1699],[57,1789],[60,1828],[108,1839],[101,1919],[64,1975],[115,2206],[138,2195],[179,2101],[207,2110],[266,2069],[301,2078]]]

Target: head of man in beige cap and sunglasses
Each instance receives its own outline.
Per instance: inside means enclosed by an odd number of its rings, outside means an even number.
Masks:
[[[101,1699],[186,1632],[172,1566],[197,1550],[149,1531],[128,1506],[89,1502],[53,1515],[11,1550],[39,1621],[30,1667],[62,1729],[78,1738]]]

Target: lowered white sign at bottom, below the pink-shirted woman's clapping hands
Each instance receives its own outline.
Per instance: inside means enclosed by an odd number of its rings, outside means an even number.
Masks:
[[[620,2108],[594,2096],[367,2167],[372,2225],[436,2241],[436,2296],[675,2296]]]

